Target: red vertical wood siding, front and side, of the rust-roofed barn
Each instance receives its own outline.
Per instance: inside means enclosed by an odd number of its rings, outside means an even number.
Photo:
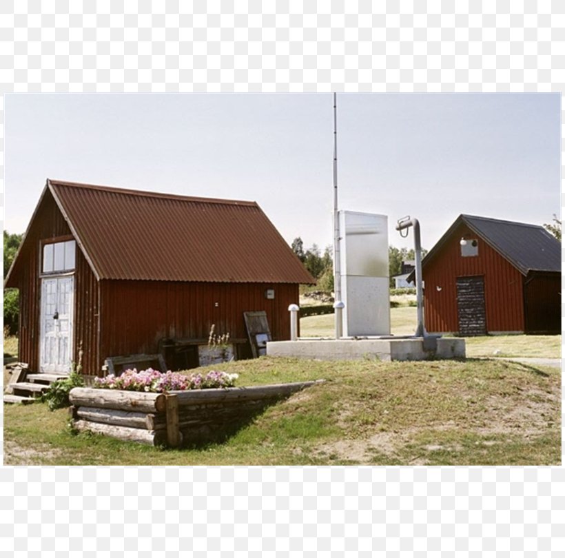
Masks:
[[[39,370],[41,240],[72,234],[52,194],[37,208],[13,270],[20,298],[19,360]],[[265,291],[274,289],[274,300]],[[218,303],[216,307],[215,303]],[[111,355],[156,353],[162,338],[207,339],[216,332],[247,338],[243,312],[264,310],[274,340],[290,336],[289,304],[298,304],[298,284],[97,280],[76,249],[73,360],[85,374],[100,374]]]

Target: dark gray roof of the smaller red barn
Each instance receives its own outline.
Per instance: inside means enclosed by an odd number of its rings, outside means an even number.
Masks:
[[[430,262],[455,229],[464,223],[524,275],[528,271],[561,272],[561,242],[541,225],[515,223],[489,217],[460,215],[422,260]],[[413,273],[411,273],[413,275]]]

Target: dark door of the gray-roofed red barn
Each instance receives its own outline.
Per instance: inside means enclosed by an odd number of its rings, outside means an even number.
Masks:
[[[459,335],[486,335],[484,278],[457,278]]]

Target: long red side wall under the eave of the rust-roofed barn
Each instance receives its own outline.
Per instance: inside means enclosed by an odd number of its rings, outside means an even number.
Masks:
[[[274,300],[266,289],[274,289]],[[273,339],[287,340],[293,303],[298,285],[103,280],[99,368],[108,356],[156,353],[163,338],[207,339],[212,324],[247,339],[246,311],[264,310]]]

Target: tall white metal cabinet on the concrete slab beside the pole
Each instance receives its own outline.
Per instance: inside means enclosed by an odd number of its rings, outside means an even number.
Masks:
[[[343,335],[390,335],[386,215],[339,211]]]

